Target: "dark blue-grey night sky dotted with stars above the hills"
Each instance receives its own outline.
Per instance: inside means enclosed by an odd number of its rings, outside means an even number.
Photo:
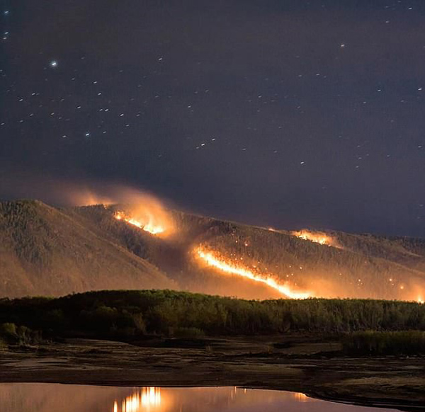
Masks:
[[[120,182],[251,224],[425,236],[424,0],[0,4],[0,198],[19,176]]]

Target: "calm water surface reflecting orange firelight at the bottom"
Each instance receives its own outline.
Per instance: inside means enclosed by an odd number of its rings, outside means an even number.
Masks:
[[[0,384],[1,412],[384,412],[285,391]]]

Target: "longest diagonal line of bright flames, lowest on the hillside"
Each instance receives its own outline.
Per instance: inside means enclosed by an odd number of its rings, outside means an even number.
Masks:
[[[235,265],[233,262],[228,262],[218,258],[213,253],[205,251],[202,247],[198,247],[196,249],[196,253],[198,254],[199,258],[214,268],[222,270],[226,273],[231,273],[232,275],[246,277],[248,279],[254,280],[255,282],[264,283],[270,287],[273,287],[273,289],[277,290],[281,294],[284,294],[286,297],[290,297],[291,299],[307,299],[308,297],[312,296],[312,294],[309,292],[293,292],[290,290],[288,285],[278,283],[270,275],[256,274],[251,270],[244,268],[243,266]]]

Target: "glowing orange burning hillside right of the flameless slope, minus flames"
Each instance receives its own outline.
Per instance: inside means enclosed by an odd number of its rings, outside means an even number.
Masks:
[[[322,232],[327,244],[300,239],[293,232],[250,227],[183,212],[170,212],[174,233],[162,239],[113,219],[122,207],[79,207],[70,212],[84,224],[132,253],[158,265],[182,288],[247,298],[282,297],[271,287],[203,265],[199,246],[222,261],[271,275],[295,290],[322,297],[423,299],[425,240],[369,234]]]

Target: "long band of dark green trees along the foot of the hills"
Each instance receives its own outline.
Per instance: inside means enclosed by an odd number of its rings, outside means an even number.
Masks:
[[[425,331],[425,305],[371,299],[255,301],[173,290],[103,291],[57,299],[2,299],[0,322],[25,324],[46,336],[103,338],[173,335],[185,329],[208,336]]]

